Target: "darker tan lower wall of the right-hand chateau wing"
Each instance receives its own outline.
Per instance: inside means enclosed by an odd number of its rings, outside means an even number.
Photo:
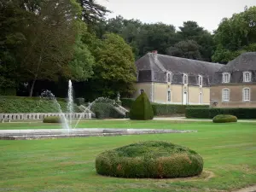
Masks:
[[[243,91],[248,88],[249,101],[243,101]],[[223,90],[230,91],[229,101],[223,101]],[[218,84],[211,87],[211,106],[214,108],[256,108],[256,84]]]

